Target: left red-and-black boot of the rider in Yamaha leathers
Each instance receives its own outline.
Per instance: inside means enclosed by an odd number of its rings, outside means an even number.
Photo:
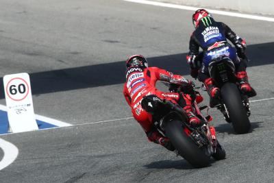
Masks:
[[[208,90],[208,95],[210,95],[210,108],[214,108],[214,106],[219,104],[219,98],[221,95],[220,88],[214,86],[214,80],[212,77],[209,77],[203,83],[206,86],[206,90]]]

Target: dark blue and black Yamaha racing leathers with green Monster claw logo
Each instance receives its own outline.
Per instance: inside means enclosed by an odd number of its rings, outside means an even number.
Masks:
[[[235,45],[236,49],[227,42],[227,39]],[[201,54],[199,54],[199,47],[203,49]],[[238,57],[243,58],[245,47],[245,40],[236,36],[225,23],[216,22],[212,17],[206,16],[201,19],[197,29],[190,37],[190,51],[186,59],[192,70],[197,71],[201,68],[201,73],[206,75],[208,75],[210,62],[221,56],[229,57],[234,62],[237,70],[245,71],[246,62],[242,62]]]

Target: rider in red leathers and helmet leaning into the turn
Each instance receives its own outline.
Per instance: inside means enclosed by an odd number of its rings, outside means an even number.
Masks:
[[[192,98],[186,93],[195,93],[195,91],[192,82],[186,78],[181,75],[173,75],[173,73],[165,71],[164,69],[148,67],[146,58],[140,55],[131,56],[126,61],[125,77],[126,82],[124,84],[123,94],[125,95],[127,103],[132,108],[134,119],[136,119],[142,126],[142,129],[145,130],[149,141],[174,151],[174,147],[169,139],[162,136],[162,134],[153,127],[152,115],[142,109],[142,97],[147,95],[156,95],[160,99],[167,99],[184,108],[189,117],[190,125],[198,126],[201,123],[200,119],[192,112]],[[183,86],[186,91],[189,92],[185,94],[164,93],[155,88],[158,80]]]

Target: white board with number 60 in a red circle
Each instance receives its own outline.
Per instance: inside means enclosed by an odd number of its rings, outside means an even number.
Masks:
[[[12,132],[38,130],[29,75],[27,73],[5,75],[3,84],[10,130]]]

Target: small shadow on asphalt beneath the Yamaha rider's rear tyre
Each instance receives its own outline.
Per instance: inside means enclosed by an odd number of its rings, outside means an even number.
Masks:
[[[256,128],[262,127],[261,123],[263,122],[251,122],[251,129],[249,133],[253,132]],[[214,127],[216,132],[219,133],[236,134],[231,123],[223,123]]]

